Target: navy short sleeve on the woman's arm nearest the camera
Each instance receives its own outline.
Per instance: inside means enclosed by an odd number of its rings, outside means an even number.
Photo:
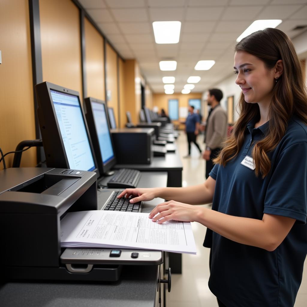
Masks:
[[[263,213],[290,217],[305,224],[307,143],[298,142],[287,147],[273,167]]]

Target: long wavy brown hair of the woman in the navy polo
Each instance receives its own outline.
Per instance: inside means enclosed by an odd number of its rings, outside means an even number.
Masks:
[[[261,174],[264,178],[271,167],[267,153],[274,150],[285,135],[291,116],[296,115],[307,124],[307,95],[301,62],[289,37],[278,29],[267,28],[252,33],[235,46],[235,51],[244,51],[258,57],[267,69],[272,69],[278,60],[283,62],[283,73],[272,91],[266,136],[252,150],[255,174],[257,177]],[[239,153],[247,123],[253,118],[260,119],[258,103],[246,103],[243,93],[239,99],[239,108],[240,116],[233,133],[224,143],[219,156],[213,160],[223,166]]]

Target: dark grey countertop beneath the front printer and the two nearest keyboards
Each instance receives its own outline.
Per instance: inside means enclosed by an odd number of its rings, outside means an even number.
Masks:
[[[139,187],[165,187],[166,172],[142,172]],[[143,204],[149,213],[156,198]],[[8,282],[0,284],[0,305],[6,307],[153,307],[158,266],[124,266],[118,282]]]

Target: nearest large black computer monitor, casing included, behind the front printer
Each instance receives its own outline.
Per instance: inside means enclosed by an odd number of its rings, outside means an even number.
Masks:
[[[49,82],[35,90],[47,166],[99,175],[79,93]]]

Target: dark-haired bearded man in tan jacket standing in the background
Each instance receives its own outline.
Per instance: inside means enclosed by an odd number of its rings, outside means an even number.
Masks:
[[[203,158],[206,160],[206,179],[213,168],[213,159],[218,156],[222,143],[227,138],[227,114],[221,107],[220,101],[223,98],[223,92],[217,88],[208,91],[208,105],[211,106],[207,118],[206,133],[204,142],[206,149]]]

